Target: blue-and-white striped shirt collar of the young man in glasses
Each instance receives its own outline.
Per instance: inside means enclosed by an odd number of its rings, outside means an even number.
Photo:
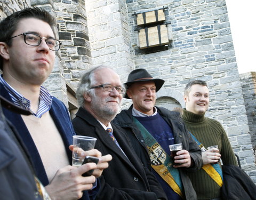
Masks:
[[[23,97],[18,91],[16,91],[11,85],[9,85],[3,79],[3,75],[0,76],[0,83],[2,83],[5,89],[8,91],[15,105],[30,110],[30,100]],[[52,98],[53,97],[50,92],[47,91],[45,87],[41,86],[39,94],[39,107],[37,113],[34,113],[34,116],[41,118],[44,113],[49,111],[52,105]]]

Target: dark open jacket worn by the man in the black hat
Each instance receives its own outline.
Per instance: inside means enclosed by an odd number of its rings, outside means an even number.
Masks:
[[[132,146],[140,157],[142,163],[147,166],[148,169],[151,169],[150,158],[147,153],[147,145],[140,133],[140,130],[133,122],[132,107],[133,105],[128,110],[122,110],[113,122],[125,129],[125,132],[130,138]],[[196,191],[194,190],[187,173],[194,172],[201,168],[203,164],[201,149],[199,149],[195,140],[188,133],[184,122],[179,117],[179,113],[161,107],[156,108],[159,115],[161,115],[166,123],[172,128],[175,143],[182,143],[183,148],[189,151],[191,161],[194,163],[193,166],[188,168],[180,167],[178,170],[185,190],[186,199],[197,200]]]

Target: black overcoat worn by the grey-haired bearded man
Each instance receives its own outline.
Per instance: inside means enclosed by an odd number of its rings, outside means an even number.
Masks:
[[[97,119],[84,108],[79,108],[72,123],[76,134],[97,138],[95,149],[102,155],[111,154],[113,157],[99,178],[101,187],[96,199],[166,199],[162,187],[153,173],[142,165],[121,127],[111,124],[125,155]]]

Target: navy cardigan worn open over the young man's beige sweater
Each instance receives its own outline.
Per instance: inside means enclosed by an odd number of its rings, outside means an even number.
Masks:
[[[0,94],[7,100],[12,102],[12,99],[5,89],[5,87],[0,84]],[[69,150],[69,145],[73,143],[73,135],[75,135],[75,131],[73,129],[73,125],[71,124],[70,116],[68,110],[63,102],[53,97],[52,106],[50,109],[50,115],[57,126],[57,129],[61,135],[63,143],[65,145],[65,149],[68,155],[69,163],[71,165],[72,161],[72,151]],[[23,119],[20,114],[13,113],[6,108],[3,108],[3,113],[5,117],[15,125],[15,128],[18,130],[20,137],[22,138],[23,143],[25,144],[31,160],[33,162],[35,173],[38,179],[43,183],[44,186],[49,184],[49,180],[47,178],[43,162],[38,153],[36,145],[27,129],[26,124],[23,122]],[[98,186],[98,185],[97,185]],[[91,199],[94,199],[95,195],[98,193],[99,186],[94,190],[90,191]],[[87,192],[85,191],[82,199],[89,199]]]

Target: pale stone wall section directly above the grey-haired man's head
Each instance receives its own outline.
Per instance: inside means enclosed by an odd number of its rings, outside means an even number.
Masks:
[[[125,1],[85,2],[93,65],[113,67],[125,81],[134,68]]]

